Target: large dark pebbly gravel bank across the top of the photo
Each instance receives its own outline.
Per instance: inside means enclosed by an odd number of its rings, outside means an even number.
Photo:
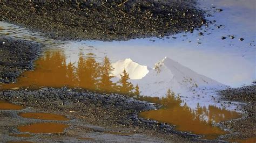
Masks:
[[[193,1],[0,1],[0,20],[64,40],[163,37],[206,24]]]

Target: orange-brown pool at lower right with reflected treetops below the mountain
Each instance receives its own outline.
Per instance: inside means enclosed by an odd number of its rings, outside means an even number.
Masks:
[[[189,108],[186,103],[181,106],[179,97],[174,97],[174,93],[167,91],[166,97],[149,98],[143,97],[147,101],[163,104],[164,108],[159,110],[151,110],[140,113],[144,118],[150,118],[161,122],[177,125],[176,130],[191,131],[195,134],[203,134],[206,139],[214,139],[226,132],[219,127],[212,126],[212,123],[219,121],[239,118],[241,115],[234,111],[228,111],[213,105],[200,106],[198,104],[196,110]]]

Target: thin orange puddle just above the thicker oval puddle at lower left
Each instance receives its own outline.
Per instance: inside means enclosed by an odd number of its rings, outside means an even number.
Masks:
[[[20,113],[19,116],[24,118],[42,119],[42,120],[69,120],[65,116],[52,113]]]

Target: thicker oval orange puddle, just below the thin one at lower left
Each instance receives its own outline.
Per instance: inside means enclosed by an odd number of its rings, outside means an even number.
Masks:
[[[29,133],[62,133],[69,125],[59,123],[35,123],[31,125],[18,126],[20,132]]]

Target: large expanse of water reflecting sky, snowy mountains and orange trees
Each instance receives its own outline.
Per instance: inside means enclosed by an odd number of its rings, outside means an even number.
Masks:
[[[55,41],[24,28],[0,22],[1,34],[42,42],[47,49],[42,58],[36,61],[35,70],[25,71],[17,83],[1,84],[0,88],[68,86],[130,94],[129,87],[123,88],[122,91],[118,89],[122,84],[122,81],[118,82],[120,74],[123,75],[122,71],[126,69],[131,78],[129,82],[133,87],[138,84],[140,95],[157,97],[153,101],[152,98],[144,100],[165,104],[163,109],[142,112],[140,116],[177,125],[177,130],[203,134],[207,139],[216,138],[227,132],[212,126],[213,123],[239,118],[241,115],[234,111],[237,105],[219,101],[215,90],[223,89],[225,86],[210,86],[208,82],[211,80],[205,76],[214,80],[214,84],[218,82],[218,85],[225,84],[231,87],[248,85],[256,79],[255,6],[248,4],[252,2],[202,1],[199,7],[210,13],[215,10],[212,6],[223,9],[222,12],[213,12],[212,17],[207,17],[210,20],[217,20],[208,28],[203,27],[192,34],[180,33],[164,38],[129,41]],[[222,26],[217,28],[219,25]],[[203,32],[204,35],[199,36],[199,32]],[[231,39],[228,35],[234,35],[235,38]],[[226,39],[221,40],[222,36]],[[239,38],[245,40],[240,41]],[[109,58],[109,63],[104,63],[105,56]],[[159,70],[165,75],[159,74],[158,67],[154,65],[164,60],[165,56],[199,75],[190,72],[181,77],[180,75],[185,73],[184,70],[178,75],[173,72],[173,68],[170,70],[168,67]],[[171,67],[181,67],[179,64]],[[103,73],[104,67],[110,65],[113,67],[112,74],[108,71],[106,74],[99,74]],[[179,70],[185,69],[184,67]],[[112,76],[115,77],[111,78]],[[180,84],[174,84],[173,82],[177,81],[174,77],[183,79],[177,82]],[[197,80],[201,77],[207,80],[207,84]],[[100,81],[103,78],[105,80]],[[119,87],[113,83],[117,83]],[[168,89],[175,92],[176,98],[179,97],[179,103],[161,98],[166,97]]]

